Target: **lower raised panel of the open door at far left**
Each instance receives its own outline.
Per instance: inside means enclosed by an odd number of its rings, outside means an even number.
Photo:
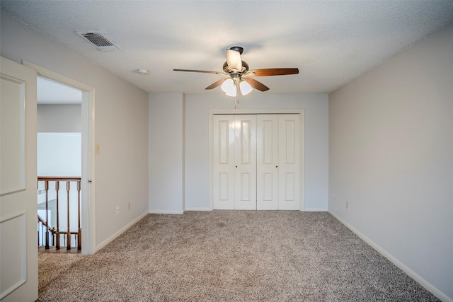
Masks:
[[[26,214],[16,214],[0,222],[0,298],[25,283],[27,276]]]

